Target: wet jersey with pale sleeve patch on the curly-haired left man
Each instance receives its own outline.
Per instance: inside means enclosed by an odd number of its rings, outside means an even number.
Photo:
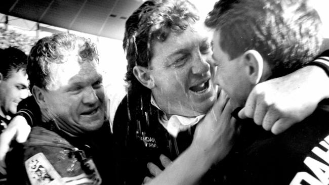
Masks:
[[[113,165],[93,142],[87,141],[90,139],[71,138],[68,142],[54,131],[33,127],[28,141],[8,155],[11,184],[109,184],[107,177],[113,173]]]

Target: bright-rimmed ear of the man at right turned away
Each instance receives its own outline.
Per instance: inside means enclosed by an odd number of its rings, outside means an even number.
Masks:
[[[246,75],[253,84],[260,82],[263,75],[264,60],[256,50],[248,50],[242,56]]]

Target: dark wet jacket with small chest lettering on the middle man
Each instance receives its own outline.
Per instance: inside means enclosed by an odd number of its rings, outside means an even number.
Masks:
[[[159,123],[161,112],[150,100],[149,94],[140,99],[130,97],[129,100],[126,96],[116,111],[113,136],[119,184],[141,184],[145,176],[151,176],[147,169],[148,162],[161,167],[160,154],[174,160],[193,140],[195,126],[180,132],[177,138],[170,135]],[[214,181],[211,175],[212,173],[207,174],[207,178],[204,178],[207,181],[202,179],[200,183],[211,184]]]

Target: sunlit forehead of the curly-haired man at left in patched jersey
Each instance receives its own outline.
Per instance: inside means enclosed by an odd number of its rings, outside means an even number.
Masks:
[[[52,83],[49,88],[60,88],[77,82],[90,83],[99,77],[101,73],[95,60],[78,61],[71,58],[63,64],[51,66]]]

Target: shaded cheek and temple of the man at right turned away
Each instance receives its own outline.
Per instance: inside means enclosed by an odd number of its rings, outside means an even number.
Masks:
[[[212,41],[213,59],[217,66],[214,83],[230,97],[234,107],[244,106],[251,90],[251,84],[244,75],[241,57],[230,59],[220,46],[220,31],[214,31]]]

